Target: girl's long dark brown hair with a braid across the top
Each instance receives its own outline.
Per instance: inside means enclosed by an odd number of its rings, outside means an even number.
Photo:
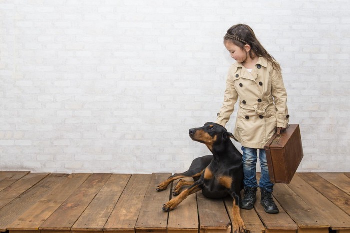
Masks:
[[[280,65],[275,61],[273,56],[271,56],[266,49],[257,40],[255,33],[251,27],[245,24],[237,24],[232,26],[227,30],[227,34],[223,37],[224,41],[231,41],[241,49],[244,45],[249,44],[251,49],[249,51],[249,56],[251,59],[256,56],[262,56],[267,61],[272,63],[273,69],[281,73]],[[252,53],[253,52],[253,53]]]

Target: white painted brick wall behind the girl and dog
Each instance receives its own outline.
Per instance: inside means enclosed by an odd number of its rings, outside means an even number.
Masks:
[[[209,153],[187,132],[221,107],[233,63],[222,37],[247,23],[282,65],[299,170],[350,171],[349,11],[347,0],[1,0],[0,169],[183,171]]]

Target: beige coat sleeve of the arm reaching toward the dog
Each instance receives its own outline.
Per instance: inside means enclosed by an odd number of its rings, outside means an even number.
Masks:
[[[230,73],[230,72],[229,72]],[[237,102],[238,93],[234,87],[231,75],[228,74],[226,79],[226,90],[223,98],[223,104],[217,113],[216,123],[225,126],[234,111],[234,104]]]

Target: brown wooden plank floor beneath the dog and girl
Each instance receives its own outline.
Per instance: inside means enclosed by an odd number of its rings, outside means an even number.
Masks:
[[[170,173],[50,174],[0,171],[0,232],[230,233],[232,199],[190,195],[169,213]],[[241,210],[251,233],[350,233],[350,173],[297,173],[276,184],[278,214]],[[258,192],[258,200],[260,194]]]

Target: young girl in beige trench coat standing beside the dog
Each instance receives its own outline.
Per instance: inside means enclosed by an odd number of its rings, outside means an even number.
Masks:
[[[226,125],[239,97],[233,135],[241,143],[243,151],[244,197],[241,208],[253,208],[257,187],[260,187],[264,210],[278,213],[272,199],[273,184],[263,148],[276,127],[283,129],[288,124],[287,94],[281,68],[248,25],[238,24],[229,28],[224,36],[224,45],[236,63],[229,69],[224,102],[216,123]],[[261,164],[259,185],[256,180],[257,149]]]

